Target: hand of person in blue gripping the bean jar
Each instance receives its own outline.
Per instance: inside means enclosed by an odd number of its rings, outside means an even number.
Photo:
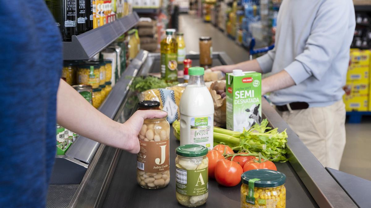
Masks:
[[[122,135],[126,135],[125,142],[121,145],[121,149],[130,153],[137,154],[139,152],[138,134],[142,128],[144,119],[163,118],[167,115],[165,111],[144,110],[136,111],[122,126]]]

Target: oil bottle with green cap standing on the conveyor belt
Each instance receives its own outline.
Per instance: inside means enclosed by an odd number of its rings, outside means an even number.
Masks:
[[[178,81],[178,43],[173,37],[173,31],[166,31],[166,37],[161,41],[161,78],[166,82]]]

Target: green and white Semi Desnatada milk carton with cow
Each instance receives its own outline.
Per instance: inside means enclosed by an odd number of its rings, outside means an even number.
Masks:
[[[262,121],[262,74],[242,70],[227,73],[227,129],[242,132]]]

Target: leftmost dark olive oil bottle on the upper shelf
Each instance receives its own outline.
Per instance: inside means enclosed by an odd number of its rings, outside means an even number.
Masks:
[[[76,34],[76,0],[45,0],[53,14],[63,41],[71,41]]]

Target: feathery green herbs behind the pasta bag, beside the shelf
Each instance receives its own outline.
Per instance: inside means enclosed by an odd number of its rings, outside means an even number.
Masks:
[[[131,77],[128,77],[131,78]],[[179,84],[178,82],[167,83],[165,80],[159,79],[153,76],[147,77],[134,77],[131,85],[130,90],[135,92],[143,92],[150,89],[158,89],[158,88],[165,88]]]

